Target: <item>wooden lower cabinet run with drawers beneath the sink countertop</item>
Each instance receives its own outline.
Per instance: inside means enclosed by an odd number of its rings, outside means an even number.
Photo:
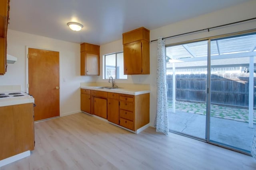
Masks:
[[[149,123],[149,103],[149,93],[128,95],[81,89],[82,111],[108,119],[132,131]]]

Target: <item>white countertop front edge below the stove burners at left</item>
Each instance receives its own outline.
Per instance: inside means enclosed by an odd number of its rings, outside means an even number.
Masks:
[[[1,106],[11,106],[16,104],[26,104],[26,103],[34,103],[33,96],[19,96],[19,97],[8,97],[8,98],[0,98],[0,107]]]

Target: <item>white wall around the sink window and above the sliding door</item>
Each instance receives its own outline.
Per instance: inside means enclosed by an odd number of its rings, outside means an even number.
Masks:
[[[202,15],[189,20],[180,21],[174,24],[170,24],[158,29],[150,30],[150,40],[158,39],[158,37],[168,37],[172,35],[177,35],[180,33],[186,33],[190,31],[195,31],[198,29],[204,29],[208,27],[218,26],[226,23],[232,23],[240,20],[246,20],[249,18],[254,18],[256,16],[256,1],[252,0],[250,2],[240,4],[238,6],[233,6],[226,8],[224,10],[219,10],[210,14]],[[175,16],[174,16],[175,17]],[[171,43],[177,43],[182,41],[189,41],[204,37],[210,37],[215,35],[223,35],[226,33],[233,33],[237,31],[244,31],[248,29],[255,29],[256,21],[250,21],[246,23],[236,24],[232,26],[226,26],[214,30],[204,31],[202,33],[194,33],[190,35],[184,35],[172,39],[166,39],[166,45]],[[102,55],[123,51],[122,39],[114,41],[100,46],[100,57],[102,61]],[[152,42],[150,44],[150,75],[132,75],[128,76],[127,80],[117,80],[120,83],[141,83],[150,84],[150,125],[154,125],[154,119],[156,116],[156,55],[157,55],[157,42]],[[102,66],[102,63],[101,63]],[[103,67],[103,66],[102,66]],[[102,72],[101,67],[101,72]],[[98,78],[98,82],[105,82],[102,80],[102,75]]]

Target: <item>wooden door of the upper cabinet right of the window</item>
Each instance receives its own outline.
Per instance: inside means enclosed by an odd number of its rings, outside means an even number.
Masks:
[[[142,43],[124,44],[124,74],[142,73]]]

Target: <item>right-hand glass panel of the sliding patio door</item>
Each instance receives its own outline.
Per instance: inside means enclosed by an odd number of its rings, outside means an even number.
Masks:
[[[211,41],[210,141],[250,151],[255,132],[256,35]]]

